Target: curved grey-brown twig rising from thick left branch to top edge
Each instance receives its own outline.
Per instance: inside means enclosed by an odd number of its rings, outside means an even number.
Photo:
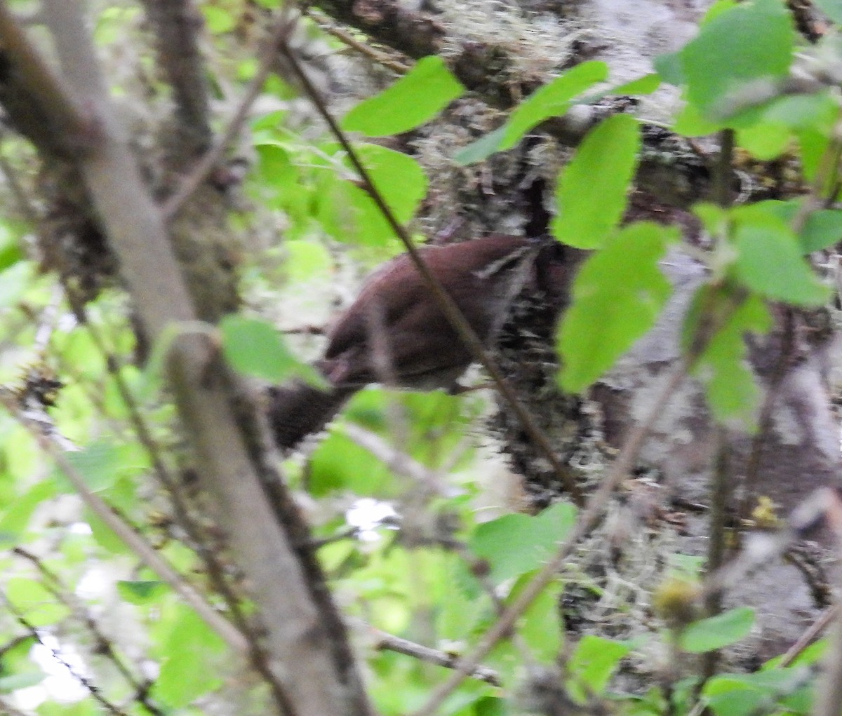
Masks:
[[[258,98],[258,94],[263,89],[267,77],[269,77],[272,62],[275,58],[275,49],[281,41],[285,40],[286,35],[289,34],[292,23],[293,21],[287,13],[280,13],[274,28],[265,40],[263,49],[260,51],[257,72],[254,73],[254,77],[248,83],[248,87],[242,95],[237,110],[232,115],[232,118],[228,120],[225,131],[222,132],[214,145],[210,147],[210,150],[205,152],[193,168],[193,171],[184,178],[176,192],[164,202],[161,212],[164,221],[167,223],[171,222],[178,215],[184,203],[200,187],[200,184],[205,181],[208,174],[220,162],[228,146],[231,145],[234,138],[242,130],[242,125],[248,119],[248,111],[251,109],[254,100]]]

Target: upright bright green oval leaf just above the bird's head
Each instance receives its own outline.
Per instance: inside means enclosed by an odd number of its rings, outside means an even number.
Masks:
[[[626,210],[640,144],[637,119],[628,114],[605,119],[585,137],[558,179],[552,233],[559,241],[602,246]]]

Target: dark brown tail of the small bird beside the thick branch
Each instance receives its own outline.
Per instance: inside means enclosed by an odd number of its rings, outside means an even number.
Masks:
[[[308,435],[322,430],[355,390],[319,390],[298,380],[269,388],[269,427],[275,443],[283,449],[294,448]]]

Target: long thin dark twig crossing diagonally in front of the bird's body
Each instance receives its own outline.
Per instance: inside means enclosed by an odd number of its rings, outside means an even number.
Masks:
[[[577,505],[581,506],[583,504],[582,491],[579,489],[576,480],[573,477],[572,470],[565,464],[562,464],[562,461],[558,459],[555,450],[552,448],[552,444],[546,438],[544,432],[541,431],[541,428],[538,427],[534,418],[530,415],[529,411],[526,410],[518,396],[515,395],[514,390],[511,385],[509,385],[509,382],[504,378],[504,375],[499,369],[496,361],[494,361],[482,345],[482,341],[477,336],[476,331],[474,331],[471,327],[471,324],[468,323],[465,316],[462,315],[461,310],[459,310],[459,306],[456,305],[456,301],[452,299],[450,294],[448,294],[441,285],[440,281],[435,278],[433,273],[429,270],[427,264],[424,263],[424,258],[418,251],[418,247],[415,246],[412,237],[409,236],[406,228],[397,220],[397,217],[392,212],[392,209],[390,209],[389,205],[386,204],[386,199],[383,198],[380,191],[374,185],[370,173],[363,165],[360,160],[360,156],[354,150],[354,147],[351,146],[348,136],[345,135],[344,131],[339,127],[336,119],[333,118],[333,114],[331,114],[321,94],[310,81],[310,78],[307,77],[306,72],[304,72],[295,52],[290,48],[285,40],[281,41],[279,50],[289,62],[290,67],[293,72],[295,72],[296,77],[299,82],[301,82],[301,86],[305,89],[308,97],[318,110],[318,113],[322,115],[322,119],[324,119],[324,121],[328,124],[332,134],[336,137],[339,144],[347,153],[349,161],[354,166],[354,170],[360,176],[360,183],[362,184],[362,188],[365,190],[365,193],[369,194],[383,218],[386,219],[386,222],[392,227],[392,231],[395,232],[395,235],[400,238],[404,247],[406,247],[413,265],[424,281],[424,284],[433,295],[439,309],[445,315],[445,318],[450,325],[453,326],[454,330],[456,330],[461,342],[463,342],[468,350],[470,350],[472,356],[476,358],[479,363],[482,363],[482,367],[488,372],[488,375],[492,379],[497,390],[504,397],[504,400],[509,404],[512,411],[514,411],[514,414],[520,420],[524,431],[529,435],[530,439],[536,443],[536,446],[541,450],[541,453],[543,453],[544,458],[546,458],[546,460],[551,464],[553,471],[556,475],[558,475],[559,479],[562,480],[562,484],[572,496],[573,501]]]

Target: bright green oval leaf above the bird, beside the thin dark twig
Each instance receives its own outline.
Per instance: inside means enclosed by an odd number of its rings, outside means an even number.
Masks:
[[[440,56],[422,57],[392,87],[351,109],[342,127],[372,137],[400,134],[423,125],[464,92]]]

